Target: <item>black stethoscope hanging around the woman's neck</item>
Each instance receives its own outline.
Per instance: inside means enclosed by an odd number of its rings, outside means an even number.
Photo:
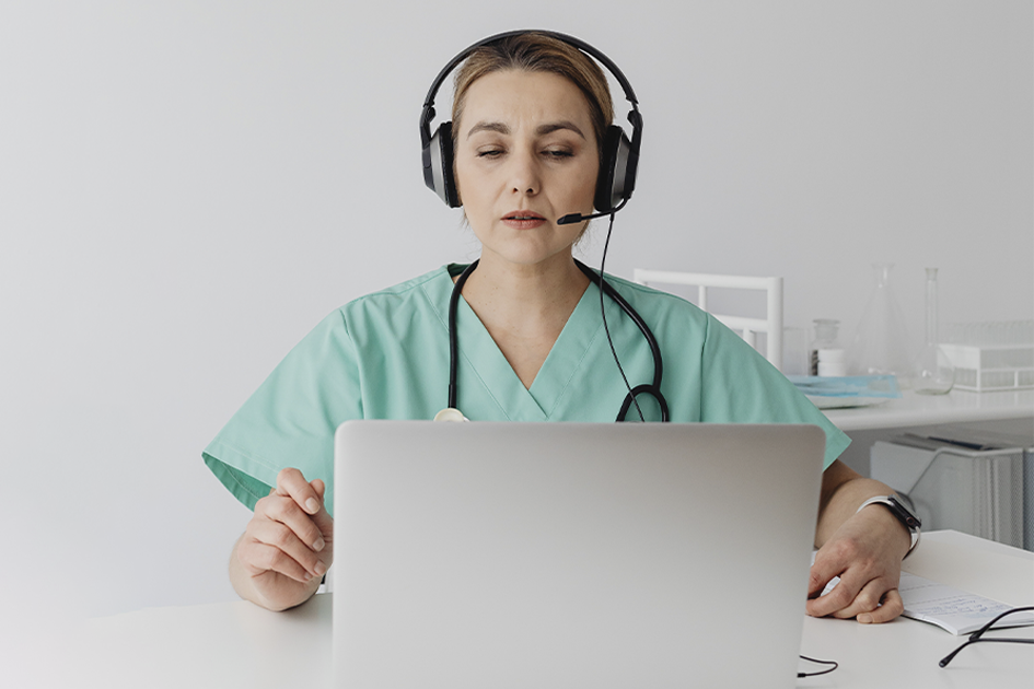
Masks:
[[[449,300],[449,407],[439,412],[439,417],[441,417],[443,420],[464,419],[463,414],[457,410],[456,407],[456,362],[460,358],[460,344],[456,337],[456,311],[460,305],[460,293],[463,291],[463,285],[466,283],[467,278],[470,277],[470,273],[477,268],[477,264],[478,261],[475,260],[460,275],[460,278],[456,279],[456,284],[452,288],[452,296]],[[579,267],[579,269],[581,269],[583,273],[585,273],[585,277],[589,278],[589,280],[594,282],[596,287],[602,290],[604,294],[617,302],[617,305],[621,307],[621,311],[624,311],[625,314],[632,319],[632,323],[639,327],[639,331],[642,332],[642,336],[647,339],[647,343],[650,346],[650,351],[653,354],[653,382],[643,383],[641,385],[637,385],[636,387],[629,387],[628,382],[625,382],[625,386],[628,388],[628,394],[625,396],[625,401],[621,404],[621,410],[618,411],[617,419],[615,419],[615,421],[624,421],[625,416],[628,413],[628,409],[634,404],[638,409],[639,402],[637,398],[639,395],[652,396],[657,400],[658,406],[661,408],[661,421],[667,421],[667,400],[664,399],[664,395],[661,394],[661,375],[663,373],[663,364],[661,362],[661,348],[657,343],[657,338],[653,337],[653,332],[650,331],[650,328],[647,326],[642,317],[636,313],[636,310],[631,307],[631,304],[625,301],[625,297],[618,294],[617,290],[611,287],[609,283],[603,279],[601,273],[597,273],[578,259],[574,259],[574,264]],[[606,327],[605,316],[604,327]],[[612,352],[614,352],[614,342],[611,341],[609,330],[607,330],[607,341],[611,343]],[[617,361],[616,352],[614,359]],[[620,369],[620,362],[618,362],[618,369]],[[625,372],[621,371],[621,376],[624,377],[624,375]],[[639,409],[639,418],[642,420],[641,409]]]

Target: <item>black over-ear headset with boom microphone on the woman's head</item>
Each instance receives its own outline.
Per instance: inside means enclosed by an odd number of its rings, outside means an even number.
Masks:
[[[549,36],[595,58],[597,62],[606,67],[607,70],[614,74],[615,79],[617,79],[617,82],[625,91],[625,97],[631,104],[631,110],[628,113],[628,121],[631,122],[632,126],[631,139],[629,139],[625,130],[617,125],[609,125],[603,138],[603,150],[600,157],[600,177],[596,180],[593,206],[600,211],[601,215],[606,215],[631,198],[632,191],[636,188],[636,172],[639,168],[639,144],[642,140],[642,116],[639,114],[639,101],[636,98],[636,92],[632,91],[631,84],[628,83],[628,80],[625,79],[625,74],[621,73],[621,70],[618,69],[617,65],[615,65],[611,58],[583,40],[551,31],[508,31],[496,34],[495,36],[489,36],[460,52],[438,73],[438,77],[435,77],[434,81],[431,83],[430,90],[428,90],[427,98],[423,101],[423,110],[420,113],[423,182],[427,184],[428,188],[434,191],[450,208],[460,208],[463,205],[460,200],[460,194],[456,190],[455,177],[453,176],[452,122],[442,122],[434,130],[434,133],[431,133],[431,120],[434,118],[434,96],[438,94],[438,90],[445,81],[445,78],[472,52],[483,46],[523,34]],[[584,217],[581,215],[577,218],[577,220],[571,219],[568,220],[568,222],[580,222],[584,219]]]

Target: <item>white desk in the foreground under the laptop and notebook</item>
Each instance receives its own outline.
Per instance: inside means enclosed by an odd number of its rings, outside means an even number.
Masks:
[[[906,565],[916,574],[1012,605],[1034,604],[1031,552],[940,532],[925,536]],[[88,620],[66,630],[63,642],[56,637],[53,643],[65,647],[56,645],[46,657],[33,658],[33,669],[23,681],[4,686],[330,687],[330,594],[316,596],[279,614],[239,602]],[[1008,633],[1034,638],[1034,628]],[[798,686],[1030,689],[1034,685],[1030,645],[975,644],[949,668],[939,668],[937,662],[963,639],[904,618],[879,626],[805,618],[802,653],[836,659],[840,668],[800,679]],[[9,677],[5,674],[0,681]]]

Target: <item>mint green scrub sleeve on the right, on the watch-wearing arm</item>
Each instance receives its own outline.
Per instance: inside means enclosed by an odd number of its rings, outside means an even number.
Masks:
[[[710,314],[700,370],[704,422],[813,423],[826,434],[823,469],[851,443],[785,375]]]

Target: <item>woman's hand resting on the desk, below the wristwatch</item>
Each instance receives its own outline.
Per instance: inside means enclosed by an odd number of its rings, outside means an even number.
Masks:
[[[890,622],[904,611],[897,591],[902,559],[911,537],[890,510],[869,505],[845,521],[815,556],[806,611],[813,617],[857,617],[863,624]],[[826,584],[840,581],[826,595]]]

